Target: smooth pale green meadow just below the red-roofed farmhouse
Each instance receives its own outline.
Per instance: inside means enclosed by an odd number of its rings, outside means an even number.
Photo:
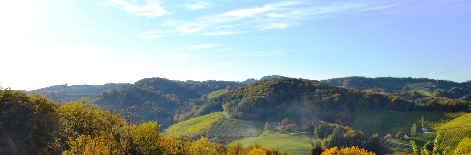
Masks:
[[[312,148],[311,142],[319,140],[319,138],[306,133],[281,134],[275,132],[271,134],[268,131],[264,131],[257,137],[244,138],[237,141],[242,142],[244,147],[258,142],[262,147],[277,148],[280,151],[288,151],[295,155],[306,155],[309,149]]]

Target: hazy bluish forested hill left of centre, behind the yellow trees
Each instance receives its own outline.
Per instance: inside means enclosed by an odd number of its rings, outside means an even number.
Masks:
[[[134,84],[104,91],[90,101],[118,109],[131,109],[143,120],[156,120],[168,126],[198,116],[197,110],[208,100],[205,94],[242,85],[231,81],[144,78]]]

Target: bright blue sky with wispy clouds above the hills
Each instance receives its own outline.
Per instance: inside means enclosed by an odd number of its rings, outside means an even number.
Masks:
[[[471,80],[470,0],[7,0],[0,85]]]

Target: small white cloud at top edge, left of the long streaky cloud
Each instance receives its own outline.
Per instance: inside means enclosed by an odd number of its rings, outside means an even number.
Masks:
[[[158,17],[161,15],[171,14],[171,12],[165,10],[161,4],[160,0],[148,0],[145,2],[145,5],[139,5],[137,0],[132,0],[130,2],[124,0],[108,0],[109,3],[114,6],[130,13],[134,16],[145,16],[147,18]]]

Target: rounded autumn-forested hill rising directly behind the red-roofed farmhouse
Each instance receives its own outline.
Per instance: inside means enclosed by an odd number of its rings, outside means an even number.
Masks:
[[[231,116],[273,122],[290,118],[320,118],[331,123],[349,121],[350,112],[414,110],[414,102],[393,95],[358,91],[301,78],[272,78],[229,91],[212,102]]]

